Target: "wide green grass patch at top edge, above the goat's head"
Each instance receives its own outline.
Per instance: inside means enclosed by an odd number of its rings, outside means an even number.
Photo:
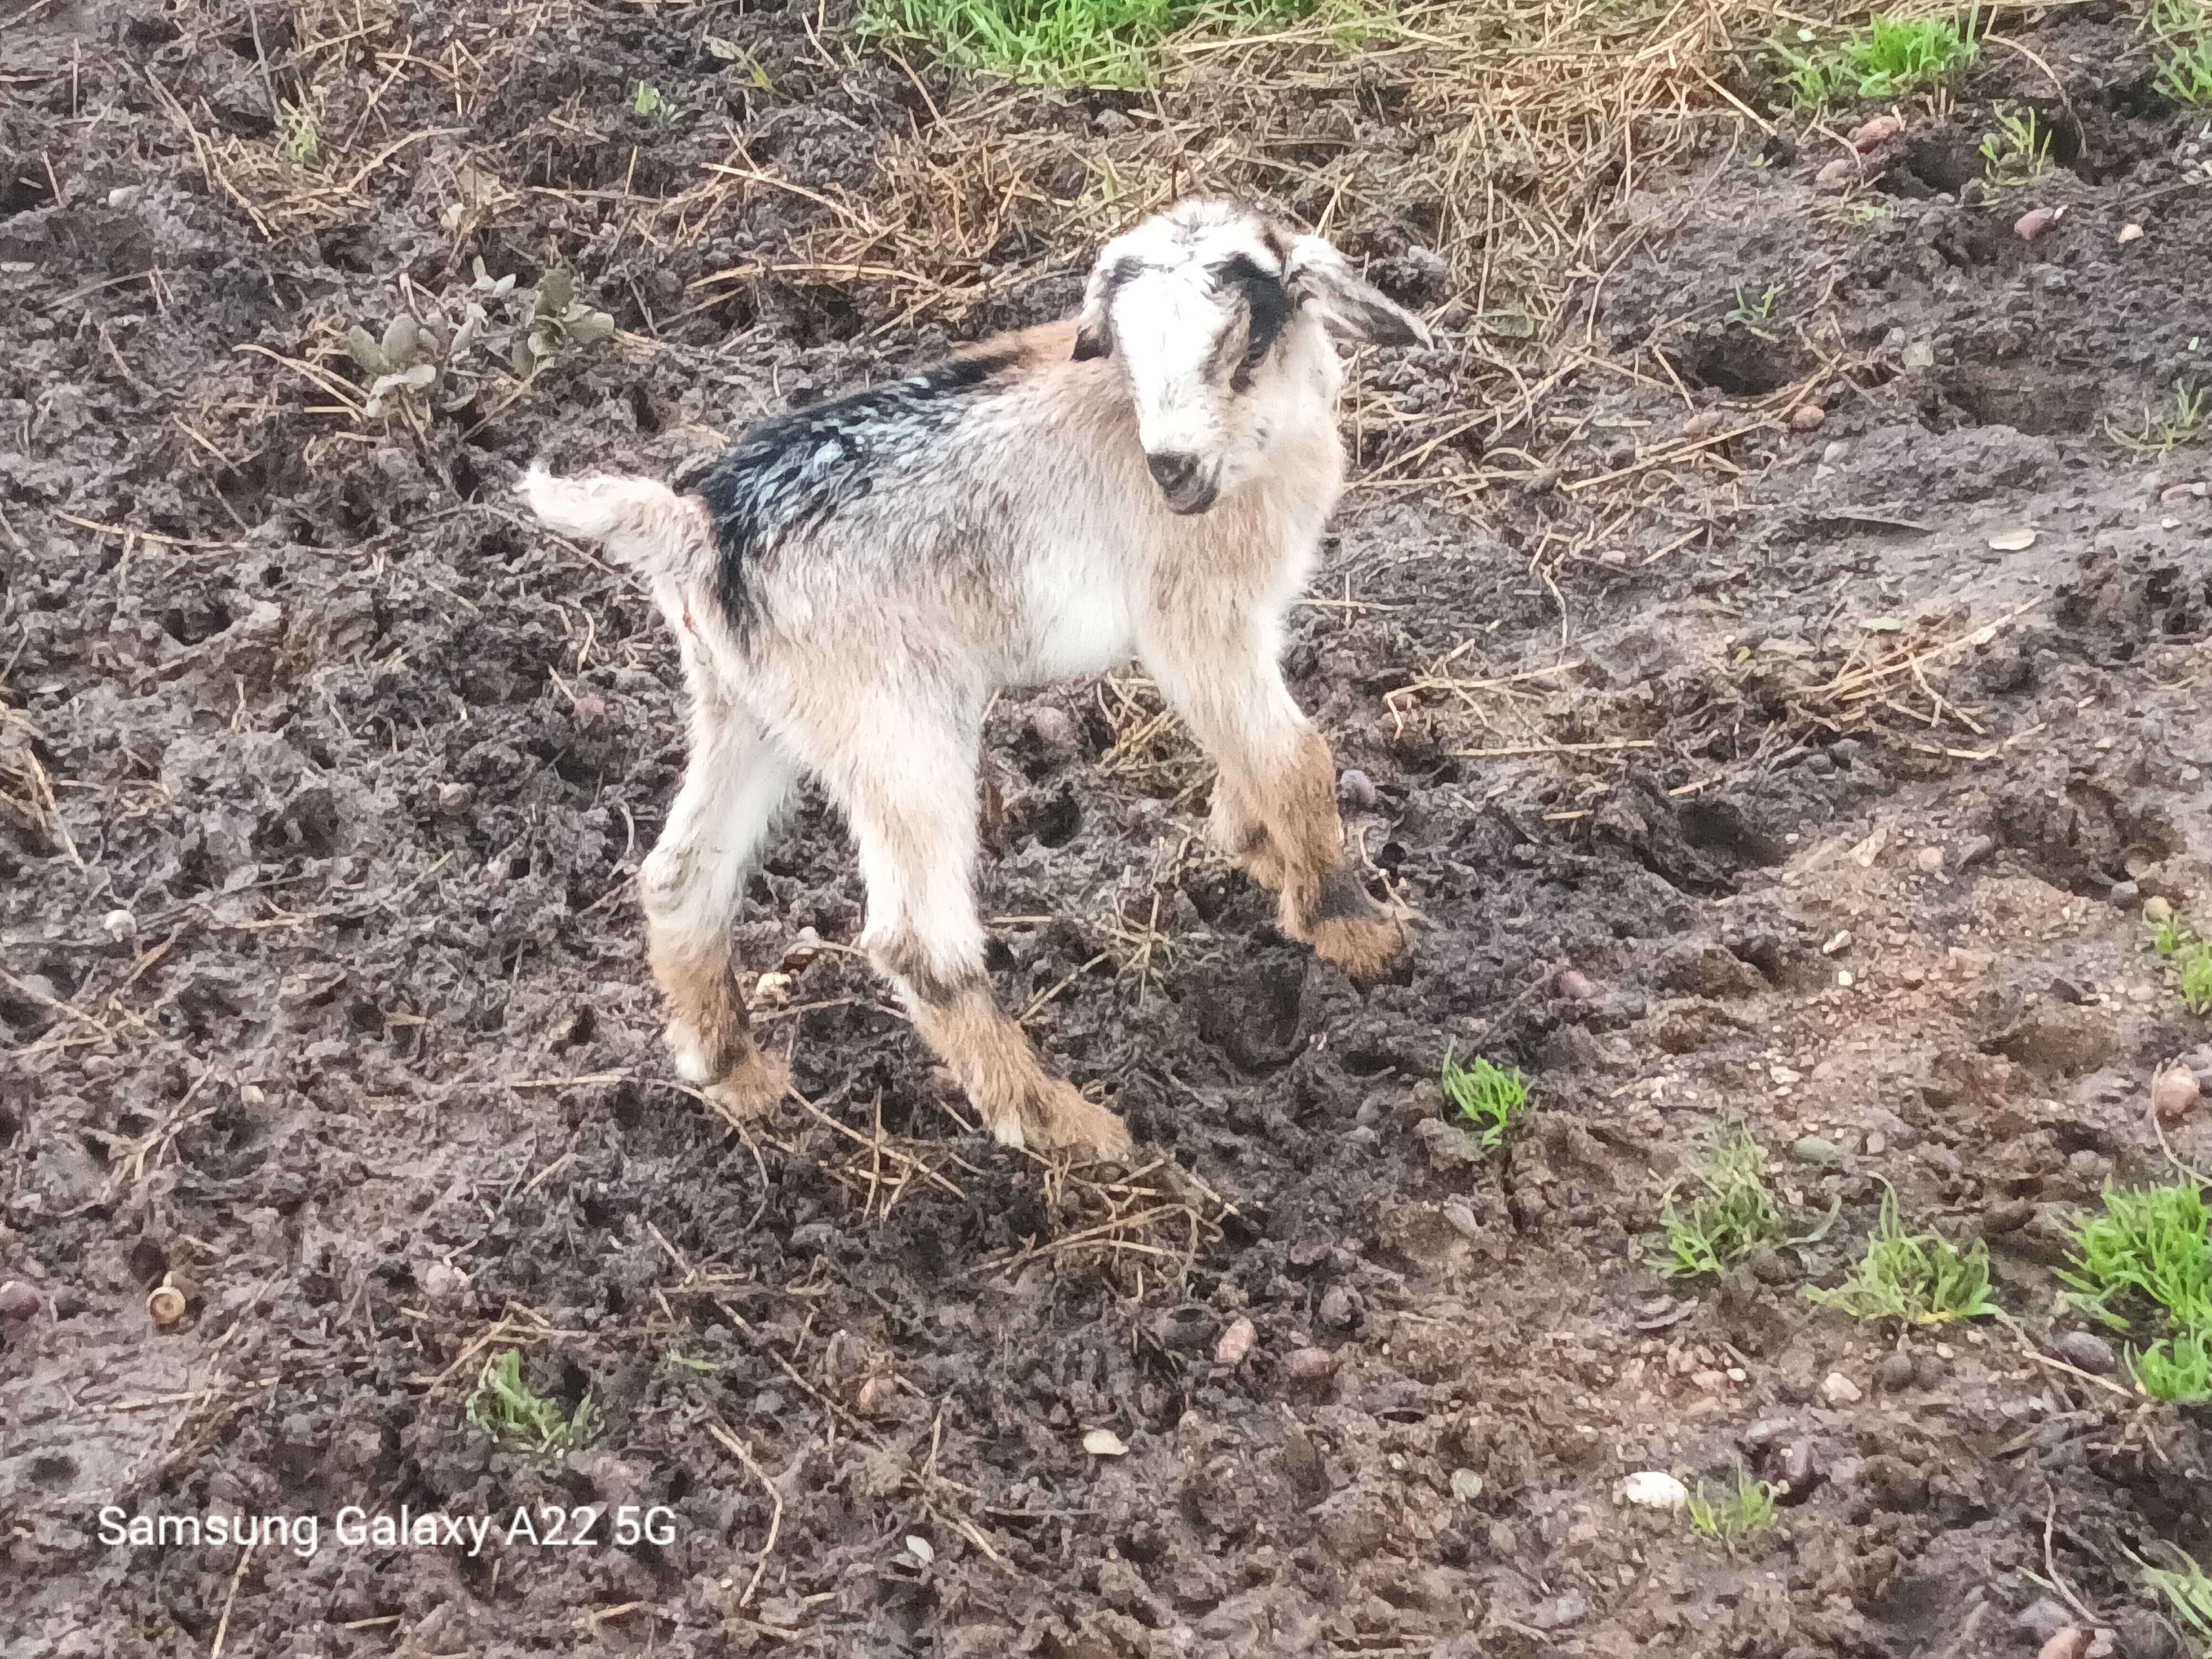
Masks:
[[[1356,44],[1358,0],[863,0],[860,35],[920,40],[940,58],[1044,86],[1150,86],[1186,29],[1263,35],[1314,18]]]

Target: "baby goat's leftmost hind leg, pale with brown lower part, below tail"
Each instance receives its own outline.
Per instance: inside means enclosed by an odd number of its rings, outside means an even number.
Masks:
[[[787,1071],[761,1053],[737,989],[730,927],[745,872],[792,787],[790,761],[692,672],[692,734],[684,787],[639,872],[646,949],[668,1000],[677,1075],[739,1117],[765,1113]]]

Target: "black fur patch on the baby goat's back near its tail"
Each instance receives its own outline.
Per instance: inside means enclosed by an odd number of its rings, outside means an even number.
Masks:
[[[690,489],[714,518],[714,599],[743,639],[752,624],[748,571],[792,531],[823,524],[874,493],[885,462],[945,431],[964,394],[1018,361],[980,352],[905,380],[770,416]]]

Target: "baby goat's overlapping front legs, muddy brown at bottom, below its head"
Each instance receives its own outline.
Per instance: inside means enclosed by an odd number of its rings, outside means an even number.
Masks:
[[[1276,891],[1276,925],[1363,980],[1407,949],[1405,925],[1374,902],[1345,858],[1336,763],[1274,661],[1270,633],[1164,622],[1146,668],[1214,765],[1214,845]]]

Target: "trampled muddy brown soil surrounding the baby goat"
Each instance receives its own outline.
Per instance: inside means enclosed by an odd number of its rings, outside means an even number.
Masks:
[[[2146,425],[2212,380],[2212,131],[2130,13],[2008,13],[1825,184],[1878,111],[1770,133],[1699,86],[1692,139],[1593,175],[1606,259],[1533,338],[1433,204],[1354,197],[1332,232],[1442,341],[1358,365],[1290,672],[1413,967],[1363,993],[1270,931],[1141,679],[991,719],[998,995],[1133,1170],[969,1133],[812,799],[741,922],[807,1104],[737,1133],[668,1079],[633,878],[675,657],[509,484],[1064,312],[1095,237],[1037,204],[1079,155],[964,285],[792,248],[927,199],[933,133],[1075,155],[1155,106],[978,91],[838,7],[11,13],[11,1659],[2183,1652],[2132,1555],[2212,1553],[2212,1427],[2053,1279],[2104,1181],[2212,1166],[2212,1110],[2148,1113],[2212,1031],[2139,916],[2212,920],[2208,447]],[[1298,166],[1433,139],[1398,60],[1316,62]],[[1991,190],[2020,106],[2057,166]],[[363,414],[345,330],[458,321],[476,259],[573,268],[619,334]],[[1502,1150],[1447,1051],[1533,1077]],[[1721,1124],[1836,1223],[1661,1281]],[[2011,1323],[1801,1296],[1885,1188],[1989,1241]],[[507,1349],[586,1444],[469,1422]],[[1785,1480],[1781,1520],[1723,1551],[1619,1502],[1646,1469]],[[115,1544],[108,1504],[321,1548]],[[347,1504],[661,1520],[471,1553],[341,1544]]]

